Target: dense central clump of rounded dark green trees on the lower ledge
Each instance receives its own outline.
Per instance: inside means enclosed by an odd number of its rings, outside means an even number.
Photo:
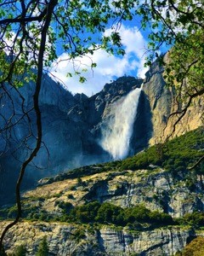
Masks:
[[[117,226],[135,226],[142,229],[142,225],[152,226],[173,224],[173,218],[167,213],[150,212],[144,206],[122,208],[109,202],[100,204],[98,201],[89,202],[85,205],[74,207],[66,216],[68,222],[80,224],[115,224]]]

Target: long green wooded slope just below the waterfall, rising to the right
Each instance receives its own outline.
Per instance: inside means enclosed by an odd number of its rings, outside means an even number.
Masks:
[[[195,164],[203,155],[204,148],[204,128],[201,127],[195,131],[189,131],[183,136],[176,137],[173,140],[152,146],[143,152],[129,157],[126,160],[116,160],[105,164],[83,166],[56,177],[51,177],[46,183],[54,183],[67,178],[77,178],[93,175],[100,172],[120,171],[124,174],[126,170],[137,171],[139,169],[150,169],[150,165],[160,166],[167,171],[179,172],[185,171],[188,167]],[[195,169],[196,173],[204,173],[204,166]],[[190,185],[190,183],[189,183]]]

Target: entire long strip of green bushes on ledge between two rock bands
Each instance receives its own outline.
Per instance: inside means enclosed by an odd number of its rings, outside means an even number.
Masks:
[[[59,221],[77,224],[114,224],[128,226],[130,230],[143,230],[144,224],[149,228],[166,225],[191,225],[196,229],[204,227],[204,212],[192,212],[183,218],[173,219],[165,212],[150,211],[143,205],[122,208],[109,202],[88,202],[82,206],[73,207],[71,203],[59,201],[58,206],[62,213],[51,216],[48,212],[30,212],[26,218],[29,220]]]

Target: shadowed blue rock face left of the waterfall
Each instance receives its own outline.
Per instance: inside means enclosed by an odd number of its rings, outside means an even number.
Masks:
[[[27,168],[24,188],[30,188],[41,177],[77,166],[111,160],[110,155],[99,145],[99,124],[112,102],[120,100],[141,83],[142,79],[124,77],[112,84],[105,84],[104,90],[88,98],[79,94],[72,96],[69,91],[44,76],[39,98],[42,148]],[[17,124],[9,132],[4,131],[0,135],[1,203],[7,201],[9,195],[13,198],[14,182],[19,175],[20,165],[35,147],[37,136],[36,116],[31,110],[33,84],[20,88],[20,93],[9,86],[6,90],[13,102],[10,102],[5,90],[0,89],[0,128],[3,129],[5,120],[8,119],[13,124],[17,121]],[[25,98],[23,102],[22,97]],[[29,118],[23,113],[26,111],[29,111]]]

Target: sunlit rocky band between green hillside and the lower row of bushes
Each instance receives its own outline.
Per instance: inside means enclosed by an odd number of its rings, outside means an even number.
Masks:
[[[32,208],[41,199],[40,208],[51,216],[61,212],[56,207],[59,202],[69,202],[75,207],[88,201],[111,202],[124,208],[142,204],[151,211],[166,212],[173,218],[204,212],[204,178],[194,173],[172,173],[159,168],[137,172],[110,171],[82,177],[82,182],[79,185],[77,178],[65,179],[40,186],[26,192],[25,199],[32,199],[26,205]],[[194,184],[193,188],[190,182]]]

